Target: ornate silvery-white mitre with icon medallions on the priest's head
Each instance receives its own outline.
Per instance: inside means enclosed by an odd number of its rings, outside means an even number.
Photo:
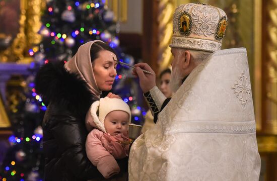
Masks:
[[[226,13],[207,4],[179,5],[173,16],[171,48],[214,52],[221,50],[228,25]]]

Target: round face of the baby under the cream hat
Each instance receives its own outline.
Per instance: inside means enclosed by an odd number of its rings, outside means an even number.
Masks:
[[[104,126],[107,133],[112,136],[116,136],[120,133],[126,133],[128,131],[128,120],[128,113],[124,111],[112,111],[106,116]]]

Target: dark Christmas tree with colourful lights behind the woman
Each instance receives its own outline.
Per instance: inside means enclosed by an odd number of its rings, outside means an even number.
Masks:
[[[34,62],[30,64],[30,75],[22,94],[26,99],[12,112],[14,135],[10,137],[11,147],[4,158],[0,170],[0,180],[43,180],[42,118],[46,106],[36,94],[34,77],[39,67],[45,63],[68,61],[78,48],[92,40],[102,40],[116,51],[120,61],[134,64],[130,55],[125,55],[119,47],[118,23],[105,1],[46,1],[39,33],[41,43],[29,50]],[[132,122],[142,124],[145,109],[143,97],[138,88],[138,80],[131,69],[117,66],[117,76],[113,89],[130,106]],[[103,93],[105,96],[107,93]],[[16,121],[15,121],[16,120]]]

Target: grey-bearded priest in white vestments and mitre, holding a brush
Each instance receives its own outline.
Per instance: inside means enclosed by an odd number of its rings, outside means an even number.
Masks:
[[[133,74],[156,125],[129,155],[129,180],[258,180],[260,156],[245,48],[221,50],[225,12],[207,4],[177,7],[171,86],[166,99],[146,63]]]

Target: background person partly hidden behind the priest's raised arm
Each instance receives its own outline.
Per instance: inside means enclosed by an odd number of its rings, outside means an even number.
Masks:
[[[165,97],[170,98],[172,96],[172,91],[169,86],[171,70],[169,68],[163,70],[160,73],[160,89]],[[154,118],[150,110],[147,111],[145,115],[145,122],[142,128],[142,133],[152,128],[155,125]]]

